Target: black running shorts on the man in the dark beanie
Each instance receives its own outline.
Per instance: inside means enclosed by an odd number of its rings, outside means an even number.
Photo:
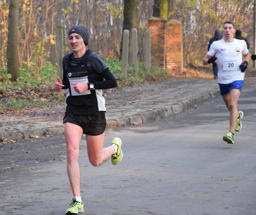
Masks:
[[[88,115],[78,115],[66,112],[63,118],[63,124],[72,123],[80,126],[86,135],[101,135],[107,126],[105,111],[98,111]]]

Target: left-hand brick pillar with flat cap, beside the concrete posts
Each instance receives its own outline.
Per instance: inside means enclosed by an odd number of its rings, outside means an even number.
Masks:
[[[166,20],[159,17],[151,17],[148,20],[151,41],[151,64],[166,69]]]

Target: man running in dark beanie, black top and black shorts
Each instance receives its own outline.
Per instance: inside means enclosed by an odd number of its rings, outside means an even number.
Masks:
[[[57,92],[69,89],[63,123],[67,144],[67,172],[74,198],[66,214],[84,212],[78,166],[79,144],[83,134],[86,135],[87,153],[93,166],[101,165],[110,157],[112,164],[117,165],[123,158],[120,138],[114,138],[109,147],[103,148],[106,109],[102,89],[116,87],[117,81],[104,60],[86,49],[88,42],[86,28],[74,26],[70,29],[69,46],[72,53],[63,57],[63,80],[57,77],[54,85]]]

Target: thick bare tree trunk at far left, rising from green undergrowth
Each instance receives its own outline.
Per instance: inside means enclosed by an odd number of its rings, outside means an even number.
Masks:
[[[7,41],[7,71],[11,80],[15,81],[20,76],[18,58],[18,22],[19,0],[10,0],[8,16],[8,41]]]

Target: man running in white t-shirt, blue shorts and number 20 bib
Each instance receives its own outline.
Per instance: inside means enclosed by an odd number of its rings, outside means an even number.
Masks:
[[[236,30],[232,22],[225,22],[222,32],[223,39],[212,43],[209,52],[203,58],[203,65],[212,62],[218,65],[220,92],[230,111],[230,128],[227,135],[223,136],[223,140],[234,143],[234,132],[242,128],[243,112],[237,110],[237,101],[242,90],[244,71],[247,69],[250,53],[245,41],[233,38]]]

